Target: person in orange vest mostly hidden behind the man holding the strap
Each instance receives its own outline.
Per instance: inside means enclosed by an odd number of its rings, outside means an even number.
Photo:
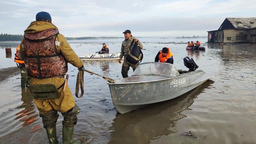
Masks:
[[[16,48],[14,61],[16,62],[18,68],[20,68],[21,89],[25,89],[26,86],[27,87],[29,86],[29,82],[28,82],[29,77],[28,77],[27,70],[25,68],[24,61],[20,58],[20,45],[18,45]]]

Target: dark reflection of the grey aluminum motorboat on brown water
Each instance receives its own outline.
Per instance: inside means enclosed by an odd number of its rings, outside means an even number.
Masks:
[[[113,120],[111,139],[108,144],[145,144],[161,135],[177,133],[176,123],[186,117],[181,114],[189,110],[197,95],[208,88],[213,81],[208,80],[195,90],[166,102],[155,103],[125,114],[117,114]]]

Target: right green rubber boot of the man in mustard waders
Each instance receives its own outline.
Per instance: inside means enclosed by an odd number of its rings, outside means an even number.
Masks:
[[[73,140],[74,126],[65,127],[62,129],[63,144],[81,144],[81,141]]]

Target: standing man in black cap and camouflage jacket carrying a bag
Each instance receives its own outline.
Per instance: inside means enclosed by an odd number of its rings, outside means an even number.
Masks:
[[[127,78],[128,77],[128,71],[130,69],[130,66],[132,66],[132,69],[135,70],[135,68],[137,67],[136,65],[133,65],[132,63],[129,63],[126,60],[126,56],[129,52],[130,47],[133,47],[135,42],[137,42],[138,46],[140,49],[143,48],[143,45],[141,44],[141,42],[132,36],[132,33],[130,30],[125,30],[124,32],[124,41],[122,42],[122,46],[121,46],[121,55],[119,56],[119,63],[121,63],[122,57],[124,56],[124,62],[122,63],[122,77],[123,78]],[[134,40],[133,45],[131,46],[132,41]]]

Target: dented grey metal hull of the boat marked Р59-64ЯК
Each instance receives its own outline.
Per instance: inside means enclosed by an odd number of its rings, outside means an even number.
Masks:
[[[119,113],[123,114],[150,103],[171,100],[185,94],[207,80],[197,80],[204,74],[205,72],[202,70],[197,70],[180,74],[177,77],[165,77],[161,80],[134,83],[109,83],[109,89],[115,108]],[[141,77],[143,76],[132,76],[128,78],[138,79]]]

